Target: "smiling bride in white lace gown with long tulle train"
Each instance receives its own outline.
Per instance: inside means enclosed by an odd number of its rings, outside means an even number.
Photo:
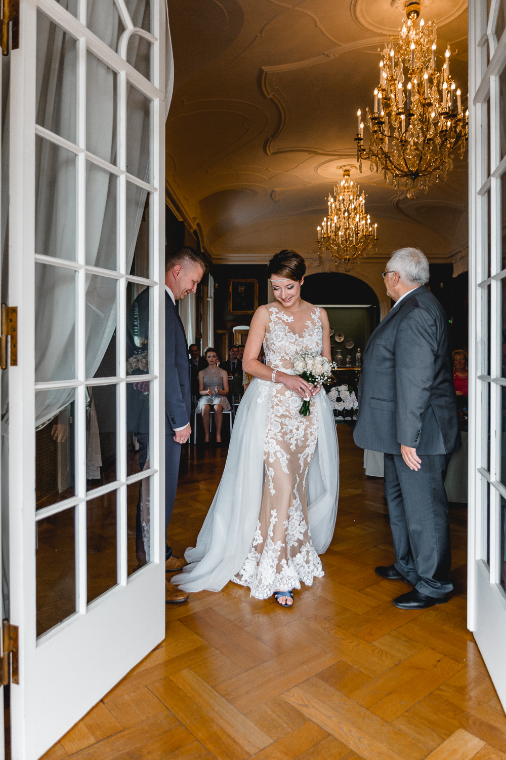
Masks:
[[[330,353],[324,309],[300,298],[306,272],[294,251],[267,268],[275,302],[256,309],[243,368],[253,381],[237,409],[228,458],[188,565],[172,579],[184,591],[221,591],[228,583],[251,596],[274,594],[291,606],[300,581],[322,578],[319,554],[332,540],[338,510],[338,438],[325,392],[294,374],[303,350]],[[262,347],[267,366],[256,358]],[[310,397],[310,415],[299,414]]]

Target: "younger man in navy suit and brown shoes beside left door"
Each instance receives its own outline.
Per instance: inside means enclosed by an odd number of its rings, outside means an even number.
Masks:
[[[207,271],[206,259],[193,248],[185,247],[170,255],[165,262],[165,569],[167,572],[180,570],[186,562],[175,557],[167,543],[167,528],[178,489],[179,461],[181,445],[190,438],[190,364],[188,343],[183,322],[176,302],[188,293],[195,293]],[[149,288],[143,290],[130,307],[127,316],[127,358],[136,353],[140,345],[140,335],[149,334]],[[130,333],[130,335],[129,335]],[[147,343],[147,340],[145,340]],[[146,349],[143,348],[145,351]],[[148,388],[145,386],[148,385]],[[131,386],[131,388],[128,388]],[[143,382],[127,384],[127,429],[134,432],[139,442],[140,468],[144,469],[149,457],[149,401],[146,391],[149,384]],[[148,464],[149,466],[149,464]],[[141,499],[140,499],[141,503]],[[137,510],[139,511],[140,506]],[[137,523],[140,524],[139,515]],[[187,600],[188,594],[171,583],[166,584],[165,600],[179,603]]]

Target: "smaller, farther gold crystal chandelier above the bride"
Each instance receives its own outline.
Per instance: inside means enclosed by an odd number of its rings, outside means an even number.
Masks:
[[[344,179],[328,195],[328,217],[318,227],[318,248],[329,252],[343,271],[349,271],[376,244],[377,224],[372,225],[366,214],[366,194],[350,179],[350,169],[344,169]]]

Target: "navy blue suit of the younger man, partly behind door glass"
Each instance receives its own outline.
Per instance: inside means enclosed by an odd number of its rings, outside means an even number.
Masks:
[[[132,332],[134,316],[137,331],[141,335],[149,334],[149,288],[143,290],[130,307],[127,318],[127,356],[136,351]],[[190,422],[190,406],[187,337],[178,308],[165,290],[165,531],[174,508],[181,458],[181,444],[174,441],[174,428],[181,428]],[[149,445],[149,402],[130,383],[127,385],[127,429],[134,432],[139,442],[139,464],[142,470]],[[137,529],[140,530],[140,525]],[[165,559],[171,553],[170,546],[166,545]]]

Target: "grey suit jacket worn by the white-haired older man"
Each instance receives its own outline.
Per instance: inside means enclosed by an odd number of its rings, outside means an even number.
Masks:
[[[400,454],[447,454],[460,446],[448,318],[423,285],[394,306],[369,338],[354,440]]]

